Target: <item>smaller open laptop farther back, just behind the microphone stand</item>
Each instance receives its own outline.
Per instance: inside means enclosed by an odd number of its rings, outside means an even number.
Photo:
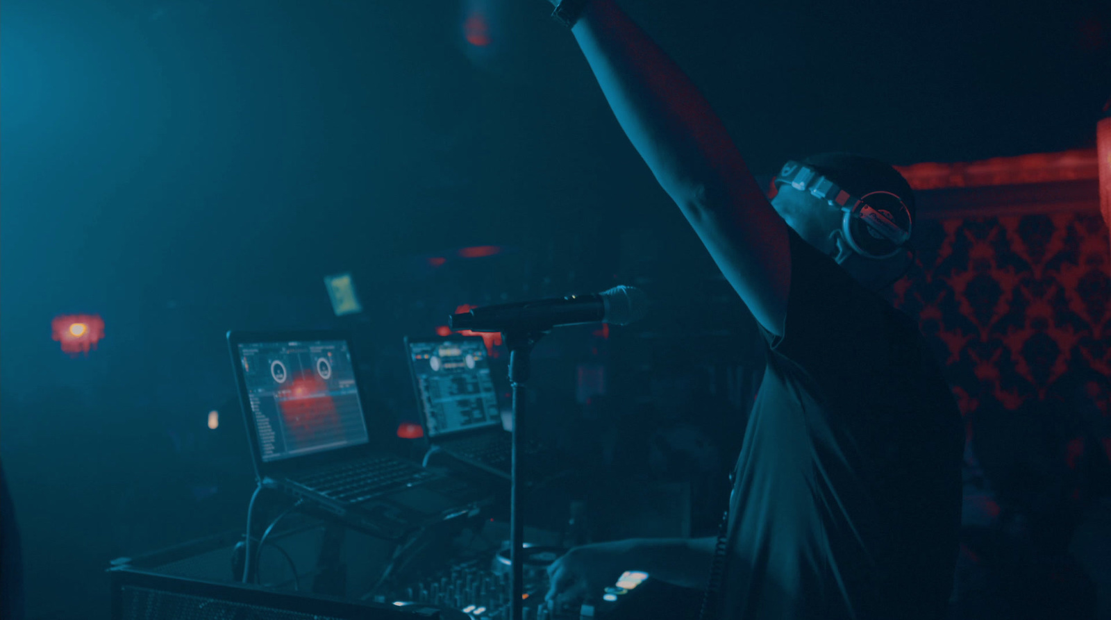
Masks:
[[[502,424],[482,338],[406,338],[406,352],[424,437],[456,460],[508,480],[512,433]],[[569,471],[560,454],[536,441],[523,443],[530,481]]]

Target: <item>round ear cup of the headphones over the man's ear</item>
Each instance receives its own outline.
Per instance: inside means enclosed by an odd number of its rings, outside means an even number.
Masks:
[[[885,191],[863,196],[852,210],[845,211],[841,221],[852,249],[871,259],[898,254],[910,239],[911,223],[907,206],[898,196]]]

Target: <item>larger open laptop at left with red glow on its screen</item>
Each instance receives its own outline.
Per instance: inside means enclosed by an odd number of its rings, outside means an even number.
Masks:
[[[373,536],[477,514],[464,480],[386,453],[342,332],[228,332],[256,478]]]

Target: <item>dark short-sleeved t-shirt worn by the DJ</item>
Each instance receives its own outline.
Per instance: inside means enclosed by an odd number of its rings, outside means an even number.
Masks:
[[[960,412],[918,327],[790,231],[730,498],[721,618],[940,619],[961,509]]]

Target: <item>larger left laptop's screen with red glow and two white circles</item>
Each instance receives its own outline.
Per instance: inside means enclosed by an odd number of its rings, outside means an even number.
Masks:
[[[238,344],[263,461],[368,442],[344,340]]]

